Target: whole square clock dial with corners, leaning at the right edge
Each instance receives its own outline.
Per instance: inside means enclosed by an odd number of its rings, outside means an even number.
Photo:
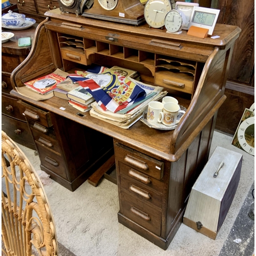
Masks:
[[[231,144],[254,156],[254,111],[245,109]]]

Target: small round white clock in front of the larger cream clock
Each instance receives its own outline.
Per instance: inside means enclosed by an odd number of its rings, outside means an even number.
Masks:
[[[186,17],[183,12],[178,10],[170,10],[164,19],[165,28],[171,32],[176,33],[184,28]]]

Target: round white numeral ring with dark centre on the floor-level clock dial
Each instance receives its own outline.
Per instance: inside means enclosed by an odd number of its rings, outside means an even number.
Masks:
[[[240,124],[238,141],[244,151],[254,156],[254,117],[249,117]]]

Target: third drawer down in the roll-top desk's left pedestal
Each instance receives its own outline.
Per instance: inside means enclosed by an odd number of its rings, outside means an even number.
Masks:
[[[36,129],[33,129],[32,127],[31,127],[31,132],[34,136],[34,140],[37,143],[44,145],[44,146],[50,148],[51,150],[58,152],[59,154],[62,153],[60,150],[59,144],[56,140],[56,137],[54,135],[52,135],[51,133],[48,135],[43,134],[43,133],[37,131]]]

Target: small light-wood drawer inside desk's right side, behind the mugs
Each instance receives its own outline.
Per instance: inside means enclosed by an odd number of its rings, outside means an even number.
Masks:
[[[156,72],[155,74],[155,83],[159,86],[169,88],[176,91],[181,91],[184,93],[192,93],[193,90],[193,81],[184,80],[179,77],[167,75],[170,72]]]

